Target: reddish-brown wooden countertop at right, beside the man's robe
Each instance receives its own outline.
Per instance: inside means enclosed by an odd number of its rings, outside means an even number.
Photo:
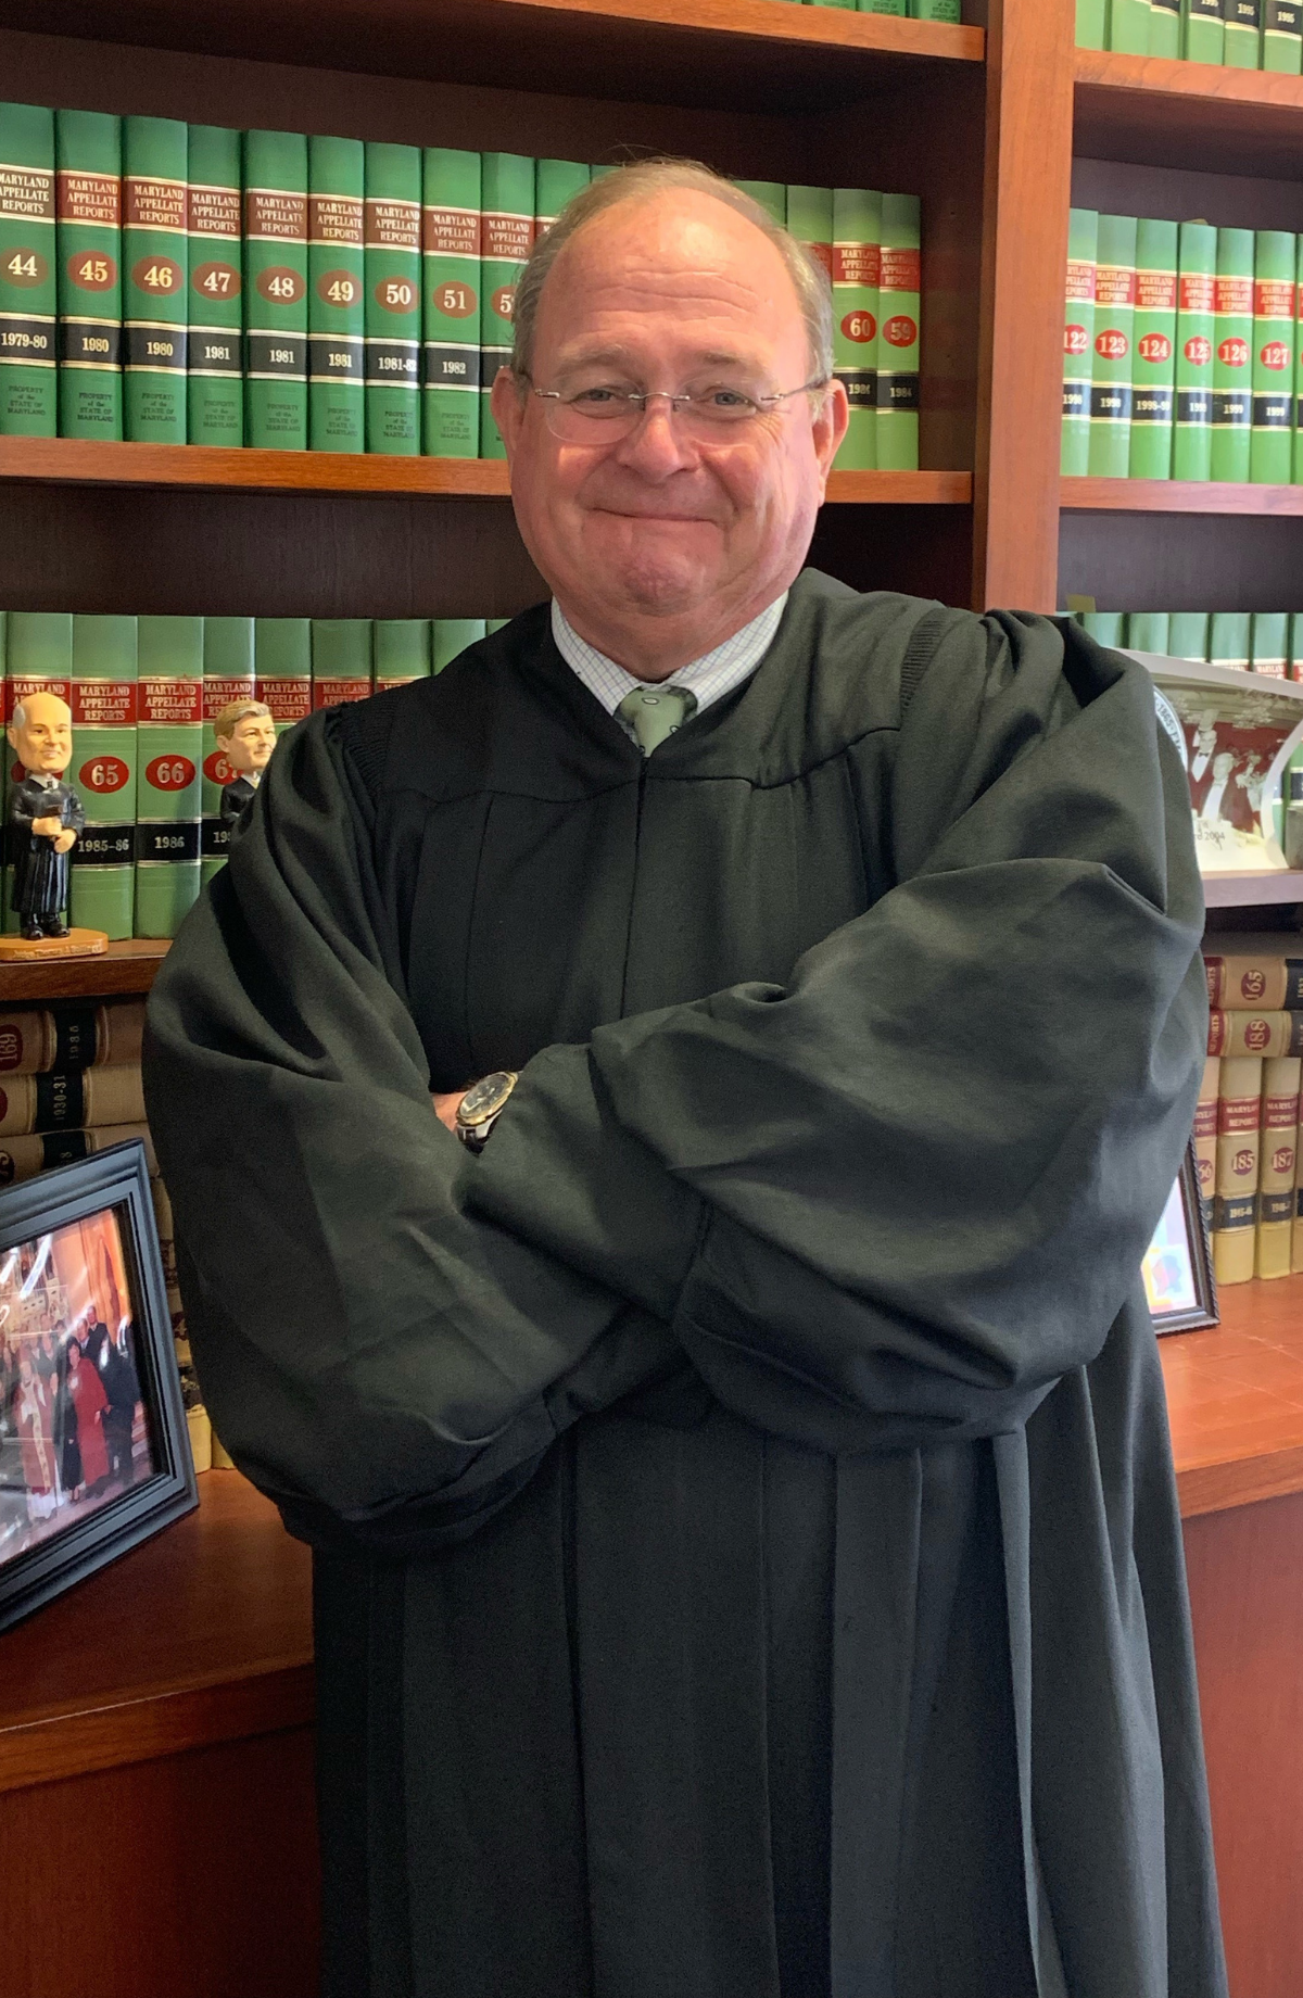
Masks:
[[[1221,1291],[1221,1325],[1159,1341],[1181,1512],[1303,1493],[1303,1277]]]

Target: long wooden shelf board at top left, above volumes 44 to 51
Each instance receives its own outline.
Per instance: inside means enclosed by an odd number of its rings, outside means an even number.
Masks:
[[[0,0],[2,28],[32,10]],[[809,112],[927,64],[981,64],[985,34],[787,0],[46,0],[42,34],[372,76]]]

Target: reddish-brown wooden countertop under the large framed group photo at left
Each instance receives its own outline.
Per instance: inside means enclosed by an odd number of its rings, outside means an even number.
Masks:
[[[0,1636],[0,1792],[314,1712],[312,1556],[236,1471],[200,1506]]]

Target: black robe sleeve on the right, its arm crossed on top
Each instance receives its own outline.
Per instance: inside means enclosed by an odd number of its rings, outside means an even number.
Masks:
[[[719,1401],[835,1451],[997,1435],[1101,1351],[1207,1031],[1189,797],[1143,667],[955,613],[885,823],[897,885],[785,987],[544,1051],[466,1169],[520,1239],[657,1313],[677,1287]]]

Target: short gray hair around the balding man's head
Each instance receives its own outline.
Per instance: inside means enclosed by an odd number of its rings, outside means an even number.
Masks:
[[[548,234],[534,244],[516,284],[512,374],[518,380],[530,374],[538,302],[544,296],[548,272],[572,236],[578,236],[594,216],[606,214],[608,208],[616,208],[620,202],[646,202],[671,188],[709,194],[715,202],[723,202],[733,214],[751,222],[761,236],[767,236],[783,260],[801,308],[809,338],[811,374],[827,380],[833,372],[833,288],[827,272],[759,202],[753,202],[731,180],[711,172],[709,166],[701,166],[697,160],[638,160],[634,166],[616,168],[614,174],[604,174],[602,180],[590,182],[588,188],[582,188],[566,204]]]

